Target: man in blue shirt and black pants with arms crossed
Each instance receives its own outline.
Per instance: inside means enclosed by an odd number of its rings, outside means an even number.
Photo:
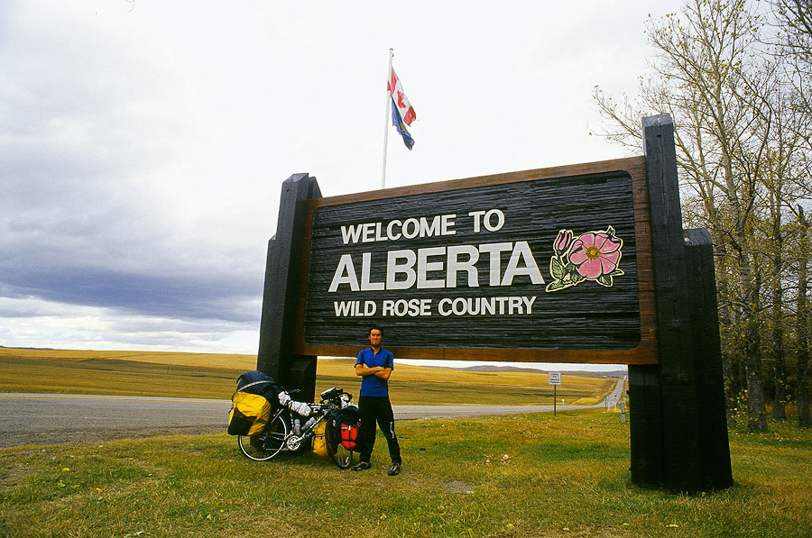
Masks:
[[[394,415],[389,401],[389,376],[394,369],[392,352],[381,347],[383,331],[375,325],[369,330],[369,345],[358,353],[355,361],[355,375],[362,378],[361,396],[358,397],[358,410],[361,414],[360,461],[353,470],[369,469],[369,457],[375,444],[375,423],[383,432],[389,445],[389,457],[392,467],[389,476],[401,472],[401,446],[394,433]]]

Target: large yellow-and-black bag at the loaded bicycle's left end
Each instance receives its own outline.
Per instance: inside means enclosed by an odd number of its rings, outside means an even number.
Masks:
[[[231,397],[231,412],[228,414],[228,433],[262,433],[271,418],[272,408],[278,405],[280,390],[271,376],[257,369],[237,378],[237,388]]]

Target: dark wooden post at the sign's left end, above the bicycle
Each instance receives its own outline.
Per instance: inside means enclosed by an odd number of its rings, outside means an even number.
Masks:
[[[276,234],[268,242],[260,323],[259,369],[285,388],[298,388],[295,399],[316,396],[316,357],[294,355],[296,308],[299,302],[305,203],[320,198],[316,178],[294,174],[282,183]]]

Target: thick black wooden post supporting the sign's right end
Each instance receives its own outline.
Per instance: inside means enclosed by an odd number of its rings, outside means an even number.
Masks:
[[[700,386],[700,378],[713,376],[707,383],[721,387],[722,372],[721,368],[718,372],[709,371],[703,366],[705,357],[699,356],[709,350],[708,346],[718,348],[718,329],[715,344],[695,340],[704,339],[706,334],[699,333],[700,316],[692,311],[692,305],[697,306],[697,303],[691,303],[693,291],[689,293],[689,290],[703,285],[697,284],[694,268],[687,269],[692,260],[687,260],[682,229],[674,123],[668,114],[660,114],[643,118],[642,128],[651,207],[655,338],[660,363],[629,366],[632,482],[641,487],[671,491],[726,488],[733,483],[732,479],[706,474],[709,466],[724,460],[724,451],[710,454],[705,448],[708,435],[717,445],[722,438],[722,433],[717,431],[719,424],[708,421],[706,415],[717,416],[719,412],[724,415],[724,398],[721,409],[703,408],[703,404],[712,402],[703,398],[706,387]],[[712,269],[712,259],[710,263]],[[706,280],[707,272],[703,275]],[[710,285],[714,286],[713,280]],[[715,316],[715,310],[709,312],[710,307],[706,301],[700,309],[706,316]],[[717,405],[716,398],[712,399],[713,405]],[[730,469],[726,425],[722,425],[726,468]]]

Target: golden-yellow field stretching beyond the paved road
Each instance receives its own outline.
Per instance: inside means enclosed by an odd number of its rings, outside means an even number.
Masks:
[[[355,394],[360,382],[353,364],[350,359],[319,359],[317,393],[341,387]],[[256,358],[251,355],[0,348],[0,392],[227,399],[237,376],[255,366]],[[396,405],[552,403],[552,388],[542,372],[396,364],[390,386]],[[594,404],[612,388],[612,378],[565,374],[558,398],[567,404]]]

